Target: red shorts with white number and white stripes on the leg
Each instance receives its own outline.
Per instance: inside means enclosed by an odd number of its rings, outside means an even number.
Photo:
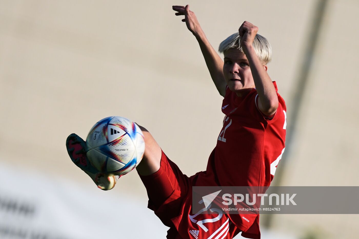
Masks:
[[[192,186],[195,186],[196,175],[187,177],[162,151],[160,169],[148,176],[140,175],[149,198],[148,208],[170,228],[168,239],[233,238],[240,230],[227,215],[192,214]]]

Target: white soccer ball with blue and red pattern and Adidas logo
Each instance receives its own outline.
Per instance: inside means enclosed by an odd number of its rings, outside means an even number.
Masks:
[[[129,119],[111,116],[97,122],[87,139],[87,157],[101,173],[124,175],[141,161],[145,141],[140,127]]]

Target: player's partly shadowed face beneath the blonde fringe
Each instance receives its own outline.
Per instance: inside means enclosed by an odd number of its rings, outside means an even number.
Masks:
[[[229,89],[238,96],[255,87],[248,59],[237,48],[224,52],[223,74]]]

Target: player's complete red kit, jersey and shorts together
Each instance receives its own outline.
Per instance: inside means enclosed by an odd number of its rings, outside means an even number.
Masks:
[[[210,210],[215,214],[194,212],[191,189],[192,186],[269,186],[285,141],[286,107],[283,98],[277,95],[278,109],[269,120],[257,107],[256,89],[237,97],[227,87],[222,104],[223,127],[206,171],[187,177],[162,152],[158,172],[140,176],[149,194],[148,207],[170,227],[167,238],[230,239],[240,231],[244,237],[260,238],[259,214],[224,214],[213,207]],[[164,202],[159,197],[156,206],[151,198],[161,194],[158,187],[167,194]]]

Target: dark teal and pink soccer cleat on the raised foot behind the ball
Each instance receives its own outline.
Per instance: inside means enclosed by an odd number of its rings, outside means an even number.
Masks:
[[[98,188],[109,190],[115,187],[117,179],[121,176],[106,175],[92,166],[86,155],[86,142],[75,133],[71,133],[66,139],[66,149],[71,160],[82,169],[94,181]]]

